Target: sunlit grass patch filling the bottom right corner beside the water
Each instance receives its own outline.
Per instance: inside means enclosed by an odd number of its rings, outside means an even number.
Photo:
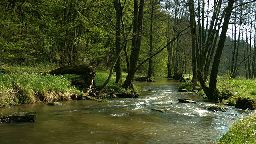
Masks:
[[[216,144],[256,144],[256,113],[234,122]]]

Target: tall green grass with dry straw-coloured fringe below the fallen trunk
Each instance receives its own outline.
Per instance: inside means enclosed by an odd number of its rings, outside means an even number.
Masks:
[[[64,76],[0,73],[0,107],[40,101],[70,100],[78,90]]]

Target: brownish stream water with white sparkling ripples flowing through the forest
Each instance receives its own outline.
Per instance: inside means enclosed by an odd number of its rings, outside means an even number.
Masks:
[[[0,109],[0,116],[12,112],[36,112],[36,122],[0,124],[1,144],[212,144],[235,119],[247,111],[207,110],[213,103],[202,96],[177,92],[180,82],[157,78],[158,82],[135,82],[140,98],[117,98],[108,102],[62,101]],[[179,103],[178,98],[198,104]],[[171,112],[152,108],[169,107]],[[237,116],[230,115],[237,114]]]

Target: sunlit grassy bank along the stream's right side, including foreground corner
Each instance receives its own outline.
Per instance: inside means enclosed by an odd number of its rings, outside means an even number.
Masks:
[[[255,90],[256,80],[246,78],[230,79],[228,77],[219,77],[217,88],[222,93],[229,93],[227,100],[220,101],[222,104],[235,106],[236,101],[242,98],[256,100]],[[192,83],[182,83],[179,88],[187,88],[193,91]],[[196,88],[198,90],[198,88]],[[204,96],[202,90],[194,91],[195,94]],[[255,144],[256,143],[256,112],[250,116],[243,116],[236,120],[227,133],[219,138],[216,144]]]

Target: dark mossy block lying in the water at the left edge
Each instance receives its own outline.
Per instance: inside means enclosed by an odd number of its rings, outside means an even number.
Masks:
[[[35,122],[36,112],[15,112],[10,116],[0,117],[0,123],[8,122]]]

